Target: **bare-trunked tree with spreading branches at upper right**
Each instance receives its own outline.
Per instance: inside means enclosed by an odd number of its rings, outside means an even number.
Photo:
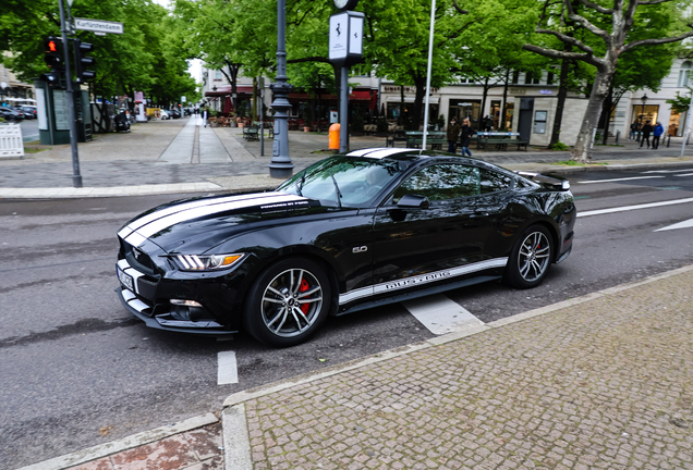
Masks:
[[[682,28],[680,25],[673,24],[673,22],[671,24],[672,29],[678,30],[669,32],[674,34],[674,36],[671,37],[633,39],[629,36],[629,33],[636,24],[646,23],[647,13],[651,13],[653,10],[665,9],[667,5],[661,4],[670,3],[671,1],[672,0],[630,0],[628,5],[624,5],[624,0],[613,0],[612,7],[606,8],[593,3],[589,0],[580,0],[580,4],[585,13],[581,12],[582,14],[578,14],[571,0],[563,0],[564,10],[562,14],[566,15],[566,18],[578,23],[583,30],[596,36],[600,40],[603,52],[601,57],[598,57],[599,50],[596,47],[592,47],[586,41],[564,34],[555,22],[551,24],[550,15],[547,14],[549,0],[546,0],[544,14],[537,23],[536,33],[555,36],[564,44],[571,45],[578,51],[560,51],[532,44],[525,44],[523,48],[550,58],[583,61],[596,67],[597,71],[592,86],[587,110],[582,121],[580,134],[578,135],[578,141],[575,147],[573,147],[572,158],[574,160],[582,162],[589,162],[592,160],[591,144],[593,129],[597,125],[603,102],[609,94],[611,81],[616,74],[616,66],[621,54],[639,47],[677,42],[693,36],[693,32],[679,34]],[[642,9],[639,10],[640,5],[646,5],[648,9],[643,12]],[[548,22],[548,26],[544,27],[543,24],[546,22]],[[550,26],[554,28],[550,28]],[[689,25],[688,27],[693,26]]]

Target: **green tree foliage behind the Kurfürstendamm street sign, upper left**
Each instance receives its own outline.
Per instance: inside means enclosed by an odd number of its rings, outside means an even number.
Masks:
[[[20,79],[31,82],[48,72],[44,63],[44,38],[60,36],[60,15],[54,0],[8,0],[0,13],[0,47],[10,52],[5,65]],[[3,4],[4,7],[4,4]],[[151,0],[80,0],[72,16],[124,24],[125,34],[96,36],[76,32],[75,37],[94,45],[95,95],[113,96],[144,91],[159,101],[195,97],[195,81],[187,74],[182,37],[168,10]]]

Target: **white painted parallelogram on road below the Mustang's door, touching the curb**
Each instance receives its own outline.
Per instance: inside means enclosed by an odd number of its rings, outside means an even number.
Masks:
[[[408,300],[402,302],[402,306],[433,334],[437,335],[484,324],[458,302],[450,300],[442,294]]]

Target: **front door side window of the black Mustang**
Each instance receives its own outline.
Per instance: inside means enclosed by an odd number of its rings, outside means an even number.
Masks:
[[[438,201],[479,194],[479,169],[442,163],[426,166],[408,177],[394,190],[392,201],[397,203],[405,195],[425,196],[429,201]]]

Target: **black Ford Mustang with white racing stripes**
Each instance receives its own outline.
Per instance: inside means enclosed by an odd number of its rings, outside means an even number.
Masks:
[[[365,149],[268,193],[151,209],[118,237],[118,295],[147,325],[291,346],[328,314],[502,279],[538,285],[572,248],[567,181]]]

